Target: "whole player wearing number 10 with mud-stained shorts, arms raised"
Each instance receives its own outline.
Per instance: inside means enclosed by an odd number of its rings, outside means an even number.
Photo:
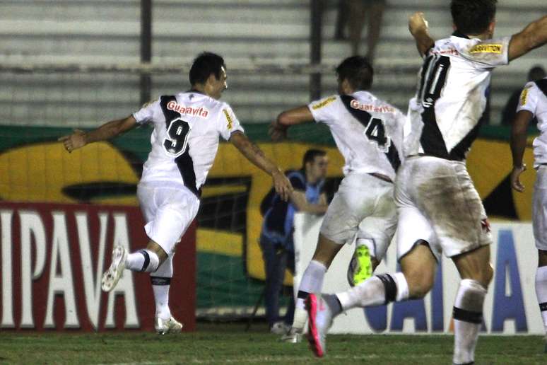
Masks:
[[[397,255],[402,272],[367,279],[336,295],[310,294],[310,340],[325,351],[332,318],[350,308],[421,298],[441,253],[461,276],[454,302],[454,364],[472,364],[483,301],[493,277],[491,235],[465,166],[496,66],[547,42],[547,16],[512,37],[493,39],[495,0],[452,0],[454,33],[436,42],[422,13],[409,19],[423,66],[405,126],[405,161],[395,182]]]

